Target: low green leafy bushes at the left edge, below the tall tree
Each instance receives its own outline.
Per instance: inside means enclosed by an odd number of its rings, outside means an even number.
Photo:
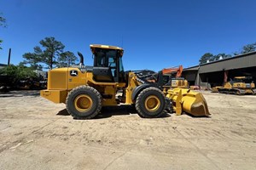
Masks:
[[[21,79],[36,78],[38,75],[32,68],[25,65],[9,65],[0,70],[0,75],[11,77],[12,83],[19,82]]]

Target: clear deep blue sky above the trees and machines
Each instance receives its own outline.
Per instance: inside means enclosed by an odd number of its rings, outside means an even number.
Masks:
[[[90,44],[125,49],[125,71],[199,64],[205,53],[233,54],[256,42],[255,0],[0,0],[0,63],[19,64],[39,41],[55,37],[84,54]],[[78,55],[77,55],[78,56]]]

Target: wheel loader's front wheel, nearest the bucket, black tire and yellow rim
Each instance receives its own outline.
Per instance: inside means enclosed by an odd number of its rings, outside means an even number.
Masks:
[[[165,113],[166,98],[158,88],[145,88],[138,94],[135,106],[139,116],[145,118],[159,117]]]

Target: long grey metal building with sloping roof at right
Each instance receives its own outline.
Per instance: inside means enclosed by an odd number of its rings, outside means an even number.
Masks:
[[[256,52],[183,69],[183,77],[190,85],[205,86],[208,82],[211,86],[219,86],[240,76],[251,76],[256,82]]]

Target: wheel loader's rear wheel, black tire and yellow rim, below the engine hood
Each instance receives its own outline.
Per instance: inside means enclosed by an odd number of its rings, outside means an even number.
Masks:
[[[91,119],[102,109],[102,95],[90,86],[79,86],[69,92],[66,108],[74,119]]]

